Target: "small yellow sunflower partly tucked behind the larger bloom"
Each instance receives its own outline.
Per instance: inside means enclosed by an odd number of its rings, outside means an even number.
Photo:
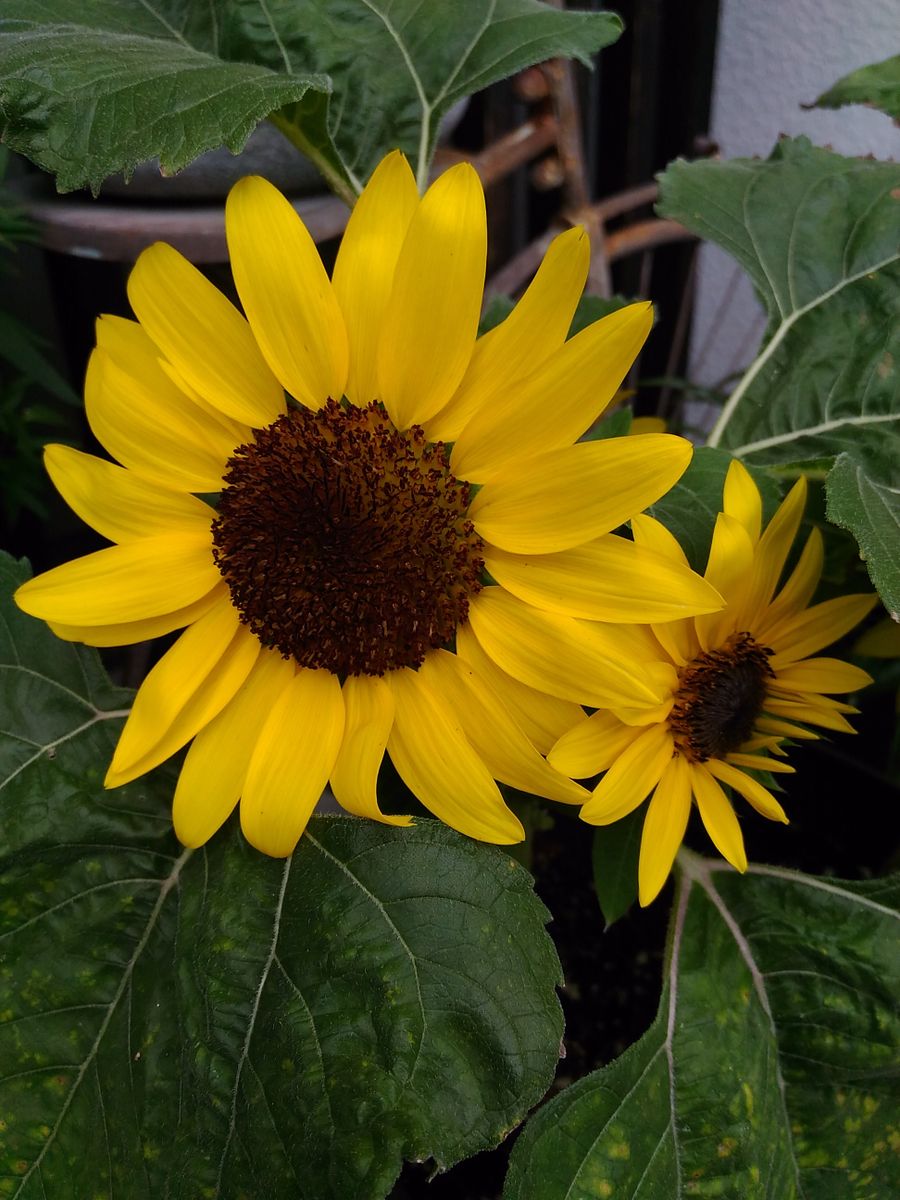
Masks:
[[[668,876],[691,798],[716,848],[744,871],[744,840],[722,785],[762,816],[786,823],[758,773],[792,772],[782,744],[816,738],[808,725],[853,732],[846,714],[856,709],[832,696],[856,691],[870,677],[848,662],[810,655],[851,630],[877,596],[846,595],[809,607],[822,574],[818,529],[778,589],[805,499],[800,479],[762,530],[760,492],[733,461],[706,570],[725,608],[631,630],[631,653],[665,691],[662,702],[643,709],[607,706],[550,751],[550,762],[572,778],[605,772],[581,811],[590,824],[618,821],[653,792],[641,839],[642,905]],[[653,517],[634,517],[631,528],[638,546],[685,563],[676,538]]]

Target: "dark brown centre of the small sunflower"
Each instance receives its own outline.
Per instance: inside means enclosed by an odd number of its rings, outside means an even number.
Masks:
[[[773,652],[733,634],[682,670],[668,727],[690,762],[721,758],[750,737],[766,700]]]

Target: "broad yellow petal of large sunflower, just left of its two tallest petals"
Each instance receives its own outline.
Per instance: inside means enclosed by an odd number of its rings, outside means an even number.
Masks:
[[[347,330],[316,242],[290,202],[247,175],[228,193],[226,235],[238,295],[272,373],[310,408],[340,400]]]

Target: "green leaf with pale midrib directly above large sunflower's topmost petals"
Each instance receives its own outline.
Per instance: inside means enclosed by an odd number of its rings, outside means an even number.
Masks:
[[[539,0],[281,0],[268,12],[271,28],[258,0],[238,0],[245,44],[275,70],[301,67],[332,80],[332,96],[311,95],[296,120],[307,145],[356,191],[396,146],[424,188],[452,104],[548,58],[587,64],[623,28],[614,13],[562,12]]]

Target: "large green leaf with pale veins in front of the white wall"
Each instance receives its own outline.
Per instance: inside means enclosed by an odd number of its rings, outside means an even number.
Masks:
[[[847,452],[883,481],[870,448],[900,433],[900,164],[786,139],[766,162],[677,162],[661,194],[666,216],[740,263],[769,318],[709,445],[760,464]],[[882,499],[900,523],[900,493]],[[875,515],[863,506],[850,527],[881,587],[900,541],[882,547]],[[882,595],[900,606],[895,589]]]

